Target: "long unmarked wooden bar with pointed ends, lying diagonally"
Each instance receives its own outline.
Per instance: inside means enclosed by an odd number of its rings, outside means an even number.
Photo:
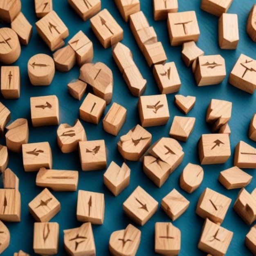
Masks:
[[[112,56],[121,71],[124,81],[133,96],[139,97],[146,90],[146,79],[143,79],[133,61],[132,52],[122,43],[112,47]]]

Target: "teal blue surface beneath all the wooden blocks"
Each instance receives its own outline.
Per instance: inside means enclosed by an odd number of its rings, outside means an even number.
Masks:
[[[227,216],[222,226],[234,232],[233,239],[227,251],[227,256],[249,256],[251,253],[244,245],[244,239],[250,226],[246,225],[240,217],[234,212],[232,206],[236,200],[238,189],[228,191],[219,182],[218,175],[220,171],[233,166],[234,148],[238,141],[243,140],[256,147],[256,143],[247,137],[249,122],[256,112],[256,95],[250,95],[246,92],[238,90],[228,83],[228,76],[233,65],[241,53],[252,58],[256,58],[256,44],[247,36],[246,22],[247,16],[255,3],[254,0],[234,0],[229,8],[228,13],[237,13],[239,21],[240,41],[236,50],[221,50],[218,47],[218,17],[206,13],[200,9],[200,0],[179,0],[179,11],[195,10],[200,27],[200,38],[198,46],[204,50],[205,55],[221,54],[226,61],[227,76],[220,85],[197,87],[195,79],[190,68],[187,68],[181,59],[182,47],[171,47],[168,38],[166,21],[153,20],[153,4],[151,0],[141,0],[141,10],[144,11],[150,25],[155,28],[158,40],[162,42],[168,61],[175,61],[177,70],[182,82],[179,94],[192,95],[197,97],[195,107],[189,112],[189,117],[196,117],[195,128],[186,143],[181,142],[185,156],[182,164],[171,174],[167,182],[161,189],[157,188],[151,180],[144,175],[141,162],[128,162],[131,168],[130,186],[123,191],[118,197],[112,195],[103,184],[102,171],[81,171],[78,152],[63,154],[56,143],[56,130],[58,126],[48,126],[33,128],[30,117],[29,98],[34,96],[44,96],[55,94],[59,99],[60,106],[60,123],[69,123],[73,125],[76,118],[79,117],[79,106],[85,98],[85,93],[81,101],[73,99],[67,91],[67,83],[79,76],[79,66],[75,66],[68,73],[56,71],[54,80],[49,87],[34,87],[29,82],[27,75],[27,62],[31,56],[38,53],[52,55],[45,43],[40,39],[36,32],[35,22],[37,21],[34,12],[34,1],[22,0],[22,12],[25,14],[29,22],[33,25],[33,34],[28,46],[22,46],[20,58],[13,65],[20,66],[21,76],[21,94],[18,100],[5,100],[2,95],[0,101],[11,111],[11,121],[17,118],[27,118],[29,121],[29,143],[39,141],[49,141],[53,153],[53,168],[66,170],[79,170],[79,187],[78,189],[96,191],[105,194],[105,220],[103,225],[93,225],[93,232],[98,256],[109,255],[108,241],[113,231],[124,229],[129,223],[134,222],[124,215],[122,204],[128,198],[130,193],[140,185],[150,195],[159,202],[158,210],[155,215],[143,226],[137,227],[141,230],[141,243],[137,252],[139,256],[156,255],[154,253],[154,227],[155,222],[171,221],[164,211],[160,208],[162,198],[173,188],[176,188],[189,201],[189,209],[173,224],[181,230],[181,256],[201,256],[206,255],[197,249],[198,241],[201,234],[204,220],[195,214],[195,207],[202,191],[209,187],[232,199],[231,205],[227,212]],[[90,21],[83,22],[81,18],[70,8],[67,0],[53,0],[53,8],[63,20],[69,29],[70,36],[65,39],[67,43],[74,34],[82,30],[93,42],[94,59],[93,62],[101,61],[108,65],[114,76],[114,92],[112,102],[117,102],[127,108],[127,121],[117,137],[104,132],[102,121],[99,125],[86,123],[82,124],[86,130],[88,140],[105,139],[107,147],[108,165],[112,160],[121,165],[123,159],[117,150],[117,142],[119,137],[124,135],[133,126],[139,123],[139,115],[137,111],[138,98],[132,97],[126,83],[124,82],[117,65],[115,64],[111,48],[103,49],[96,36],[90,29]],[[147,79],[147,89],[144,95],[159,94],[159,90],[153,78],[152,71],[148,67],[144,56],[139,50],[134,37],[132,36],[129,24],[125,23],[121,18],[119,11],[113,0],[102,0],[102,9],[107,8],[112,16],[117,20],[119,25],[124,29],[124,40],[122,43],[127,45],[131,50],[134,61],[139,67],[141,74]],[[9,26],[8,24],[0,24],[0,27]],[[165,126],[147,128],[152,133],[155,142],[161,137],[168,137],[173,117],[175,115],[183,116],[177,110],[173,100],[174,94],[167,95],[170,110],[170,119]],[[225,164],[203,166],[204,180],[202,185],[193,194],[187,194],[179,187],[179,177],[183,168],[189,162],[199,164],[197,142],[202,134],[211,133],[210,127],[205,122],[205,114],[211,99],[224,99],[233,103],[232,117],[229,121],[231,128],[231,157]],[[110,104],[111,105],[111,104]],[[107,106],[105,114],[110,105]],[[101,119],[102,120],[102,119]],[[5,139],[0,138],[0,144],[5,144]],[[20,193],[22,200],[22,213],[20,223],[5,223],[11,233],[11,242],[9,247],[2,253],[3,256],[12,256],[19,249],[35,255],[33,252],[33,223],[28,210],[28,203],[36,196],[41,188],[36,187],[36,173],[26,173],[22,165],[22,155],[9,152],[9,165],[20,179]],[[246,170],[254,178],[247,186],[247,190],[251,192],[255,186],[255,170]],[[60,225],[59,250],[58,255],[66,255],[63,245],[63,230],[79,227],[81,223],[76,220],[76,201],[77,192],[52,192],[54,196],[61,202],[61,212],[58,213],[51,222],[58,222]]]

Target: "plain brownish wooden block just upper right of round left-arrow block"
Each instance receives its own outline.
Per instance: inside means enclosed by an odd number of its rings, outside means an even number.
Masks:
[[[76,64],[76,52],[70,45],[66,45],[54,52],[53,60],[56,70],[60,72],[68,72]]]

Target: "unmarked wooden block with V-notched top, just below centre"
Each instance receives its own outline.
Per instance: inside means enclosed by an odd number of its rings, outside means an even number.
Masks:
[[[115,196],[119,195],[130,184],[130,168],[126,163],[120,167],[112,161],[103,175],[103,182]]]

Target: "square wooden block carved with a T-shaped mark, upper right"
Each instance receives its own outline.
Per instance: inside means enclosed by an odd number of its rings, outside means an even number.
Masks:
[[[195,11],[168,13],[167,26],[172,46],[198,41],[200,30]]]

